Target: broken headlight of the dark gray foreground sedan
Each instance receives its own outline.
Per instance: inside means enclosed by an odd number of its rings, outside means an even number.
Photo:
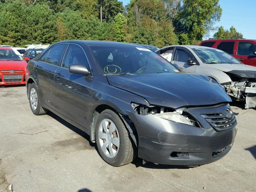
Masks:
[[[137,104],[133,102],[131,103],[131,106],[134,111],[140,115],[152,114],[166,120],[200,127],[198,121],[193,116],[182,110],[174,110],[162,106]]]

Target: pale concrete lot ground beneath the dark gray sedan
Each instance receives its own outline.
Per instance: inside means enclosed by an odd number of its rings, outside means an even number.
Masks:
[[[34,116],[24,86],[0,88],[0,192],[256,191],[256,110],[235,103],[238,132],[221,160],[199,167],[136,159],[112,167],[78,128]]]

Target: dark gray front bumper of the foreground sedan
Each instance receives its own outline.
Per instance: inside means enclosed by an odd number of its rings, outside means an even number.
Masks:
[[[214,108],[218,111],[218,107]],[[211,108],[205,109],[214,112]],[[165,120],[152,114],[142,116],[131,113],[129,116],[138,132],[138,156],[157,164],[170,165],[202,165],[225,156],[234,143],[235,126],[216,131],[200,117],[202,111],[204,109],[194,108],[190,112],[196,114],[203,128]],[[171,156],[175,152],[188,156]]]

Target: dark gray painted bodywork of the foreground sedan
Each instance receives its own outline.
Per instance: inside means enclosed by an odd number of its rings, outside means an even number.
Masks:
[[[88,70],[92,75],[71,74],[60,66],[56,68],[38,62],[38,56],[28,63],[26,83],[33,80],[40,90],[43,107],[90,134],[92,141],[95,140],[92,122],[94,111],[97,107],[106,105],[132,120],[134,133],[138,134],[139,139],[138,156],[145,160],[162,164],[205,164],[221,158],[230,150],[236,134],[235,128],[216,132],[199,116],[204,110],[219,112],[228,107],[230,98],[217,84],[208,82],[204,76],[188,74],[107,77],[100,74],[96,67],[90,45],[138,45],[99,41],[62,43],[75,43],[84,49],[90,64]],[[34,66],[40,68],[40,73]],[[154,115],[138,115],[130,102],[145,105],[149,102],[170,108],[186,106],[188,113],[198,118],[203,127],[180,124]],[[219,103],[224,104],[218,105]],[[225,147],[225,152],[214,158],[211,156],[213,151]],[[190,152],[191,158],[170,159],[170,153],[174,150]]]

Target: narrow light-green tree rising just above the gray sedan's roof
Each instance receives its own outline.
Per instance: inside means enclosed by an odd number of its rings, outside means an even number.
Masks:
[[[124,42],[125,33],[124,33],[124,25],[126,25],[127,20],[124,18],[122,13],[118,13],[113,20],[113,28],[114,28],[114,41]]]

